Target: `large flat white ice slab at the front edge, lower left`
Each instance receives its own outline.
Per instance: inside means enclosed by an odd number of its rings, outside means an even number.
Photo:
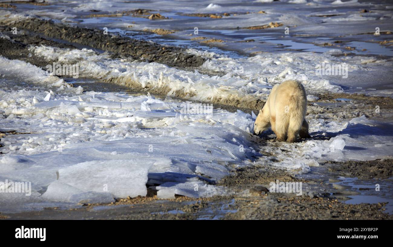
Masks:
[[[149,159],[93,160],[59,169],[58,182],[70,187],[57,190],[57,198],[67,201],[84,192],[108,192],[116,198],[145,196],[147,173],[154,162]]]

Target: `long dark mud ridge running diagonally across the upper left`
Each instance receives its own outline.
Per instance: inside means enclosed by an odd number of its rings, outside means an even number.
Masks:
[[[204,58],[188,54],[184,48],[168,47],[128,37],[112,36],[104,34],[103,30],[73,27],[40,18],[10,20],[1,24],[37,32],[50,38],[106,50],[114,53],[115,57],[127,56],[133,59],[143,59],[148,62],[158,62],[180,68],[198,67],[205,61]]]

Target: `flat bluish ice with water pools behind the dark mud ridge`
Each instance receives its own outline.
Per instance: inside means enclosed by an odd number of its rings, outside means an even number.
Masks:
[[[193,42],[197,38],[223,39],[220,48],[237,50],[241,54],[263,51],[307,50],[323,52],[332,48],[355,47],[359,54],[392,55],[389,47],[370,45],[382,40],[366,34],[391,31],[393,5],[389,1],[50,1],[51,5],[36,7],[19,4],[19,13],[37,14],[64,23],[103,29],[111,32],[175,45],[203,46]],[[378,4],[376,4],[378,3]],[[147,12],[134,13],[135,9]],[[363,10],[366,12],[363,12]],[[50,11],[47,11],[50,10]],[[262,11],[262,12],[260,12]],[[160,13],[165,19],[149,20],[151,13]],[[226,15],[224,15],[226,13]],[[207,17],[195,16],[207,14]],[[209,18],[209,14],[220,18]],[[279,28],[245,29],[281,23]],[[198,27],[198,34],[194,34]],[[284,28],[289,27],[289,34]],[[143,30],[173,30],[169,36],[147,35]],[[358,35],[353,40],[353,35]],[[384,37],[386,38],[386,37]],[[389,36],[388,39],[391,39]],[[249,42],[239,42],[249,41]],[[343,43],[334,43],[341,41]],[[331,43],[331,45],[323,44]],[[216,44],[219,45],[219,44]],[[364,47],[366,45],[367,47]],[[208,47],[204,47],[208,49]],[[363,48],[367,48],[363,50]],[[217,48],[212,48],[216,49]],[[347,52],[350,52],[347,50]],[[234,55],[234,53],[230,53]]]

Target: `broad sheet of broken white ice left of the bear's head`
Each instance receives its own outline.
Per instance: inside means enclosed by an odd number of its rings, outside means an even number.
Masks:
[[[31,83],[40,81],[35,68],[23,65]],[[24,133],[2,137],[0,180],[32,184],[30,197],[0,193],[11,211],[14,203],[22,210],[144,196],[146,184],[166,182],[191,195],[184,183],[194,181],[201,188],[194,197],[213,196],[222,191],[203,181],[217,181],[257,156],[254,119],[242,112],[180,114],[184,102],[154,96],[0,83],[0,128]]]

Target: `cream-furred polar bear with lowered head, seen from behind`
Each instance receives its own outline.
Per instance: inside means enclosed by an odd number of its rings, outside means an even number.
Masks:
[[[306,91],[298,81],[284,81],[275,85],[268,100],[255,119],[256,135],[272,127],[277,141],[295,142],[309,138],[309,124],[304,119],[307,111]]]

